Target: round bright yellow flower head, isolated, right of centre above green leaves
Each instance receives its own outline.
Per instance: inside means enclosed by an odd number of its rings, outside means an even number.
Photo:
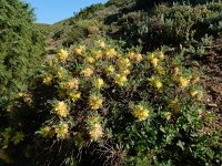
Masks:
[[[142,105],[137,105],[134,107],[134,110],[132,111],[132,115],[138,118],[138,121],[144,121],[149,117],[150,111],[147,110],[144,106]]]

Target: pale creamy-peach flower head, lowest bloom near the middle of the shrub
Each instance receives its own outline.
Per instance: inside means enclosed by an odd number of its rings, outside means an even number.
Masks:
[[[103,136],[103,128],[100,123],[95,123],[89,131],[91,141],[99,141]]]

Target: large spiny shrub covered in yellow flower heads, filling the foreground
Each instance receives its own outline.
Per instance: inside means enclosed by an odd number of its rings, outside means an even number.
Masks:
[[[1,134],[6,149],[49,165],[216,163],[200,73],[181,58],[103,39],[60,50],[13,107],[38,121],[17,117]]]

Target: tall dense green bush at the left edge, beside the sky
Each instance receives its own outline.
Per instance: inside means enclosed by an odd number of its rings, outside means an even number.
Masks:
[[[10,123],[11,100],[27,87],[42,61],[44,39],[33,21],[27,3],[0,0],[0,131]]]

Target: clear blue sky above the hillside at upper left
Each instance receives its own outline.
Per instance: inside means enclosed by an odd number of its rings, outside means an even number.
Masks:
[[[38,23],[56,23],[94,3],[108,0],[23,0],[34,8]]]

